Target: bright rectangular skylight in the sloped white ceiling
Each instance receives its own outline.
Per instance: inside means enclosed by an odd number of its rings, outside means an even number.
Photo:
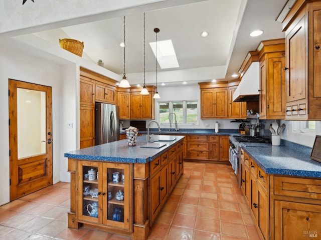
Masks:
[[[156,44],[149,42],[149,45],[156,57]],[[175,49],[172,40],[157,41],[157,61],[161,68],[179,67],[179,62],[176,58]]]

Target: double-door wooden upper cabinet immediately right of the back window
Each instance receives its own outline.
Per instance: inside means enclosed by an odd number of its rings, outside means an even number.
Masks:
[[[227,87],[201,89],[201,118],[227,118],[227,102]]]

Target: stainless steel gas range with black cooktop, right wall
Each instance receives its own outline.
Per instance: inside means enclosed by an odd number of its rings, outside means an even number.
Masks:
[[[229,161],[231,162],[232,168],[236,174],[236,177],[241,184],[240,180],[240,142],[257,142],[257,143],[271,143],[271,139],[260,136],[250,135],[231,135],[230,136],[230,150],[229,150]]]

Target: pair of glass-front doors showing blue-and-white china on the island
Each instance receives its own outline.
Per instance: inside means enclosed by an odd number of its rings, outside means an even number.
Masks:
[[[131,228],[131,165],[82,160],[78,162],[78,219]]]

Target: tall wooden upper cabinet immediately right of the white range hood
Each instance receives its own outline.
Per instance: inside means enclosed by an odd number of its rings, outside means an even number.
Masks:
[[[262,41],[260,61],[260,118],[285,118],[285,39]]]

